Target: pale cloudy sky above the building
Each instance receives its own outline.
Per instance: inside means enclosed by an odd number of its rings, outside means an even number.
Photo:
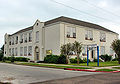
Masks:
[[[99,24],[120,34],[120,0],[0,0],[0,47],[5,33],[29,27],[36,19],[44,22],[59,16]]]

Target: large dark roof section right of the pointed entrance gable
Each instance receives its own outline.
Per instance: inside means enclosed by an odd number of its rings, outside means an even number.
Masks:
[[[68,18],[68,17],[64,17],[64,16],[46,21],[45,25],[52,24],[52,23],[55,23],[55,22],[66,22],[66,23],[76,24],[76,25],[80,25],[80,26],[90,27],[90,28],[93,28],[93,29],[99,29],[99,30],[108,31],[108,32],[118,34],[114,31],[106,29],[106,28],[104,28],[100,25],[89,23],[89,22],[84,22],[84,21],[81,21],[81,20],[72,19],[72,18]]]

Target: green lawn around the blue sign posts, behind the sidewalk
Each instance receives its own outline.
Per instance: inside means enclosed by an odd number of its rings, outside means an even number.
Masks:
[[[70,64],[70,65],[77,65],[77,64]],[[100,67],[117,66],[117,65],[120,65],[120,64],[118,64],[118,61],[100,62],[99,63]],[[79,66],[87,66],[87,63],[80,63]],[[90,62],[89,66],[97,67],[97,62]]]

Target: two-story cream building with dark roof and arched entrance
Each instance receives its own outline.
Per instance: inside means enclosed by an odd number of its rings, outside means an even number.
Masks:
[[[12,35],[5,34],[4,56],[27,57],[32,61],[43,61],[47,54],[60,55],[63,44],[75,41],[83,44],[81,58],[87,57],[87,45],[99,46],[100,55],[115,56],[111,48],[118,34],[96,24],[58,17],[46,22],[37,20],[31,27]],[[89,50],[89,59],[96,58],[96,49]],[[73,53],[71,57],[76,57]]]

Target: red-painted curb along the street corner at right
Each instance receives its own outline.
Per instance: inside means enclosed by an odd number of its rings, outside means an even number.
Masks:
[[[86,71],[86,72],[104,72],[104,73],[118,73],[118,72],[120,72],[120,71],[95,71],[95,70],[71,69],[71,68],[64,68],[64,70],[71,70],[71,71]]]

